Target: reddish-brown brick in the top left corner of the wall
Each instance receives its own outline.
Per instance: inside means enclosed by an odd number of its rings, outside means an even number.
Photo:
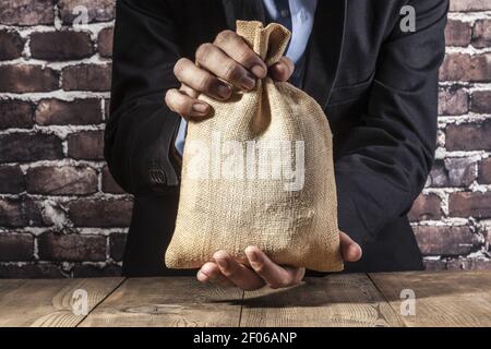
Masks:
[[[53,21],[52,0],[0,1],[0,24],[37,25],[52,24]]]

